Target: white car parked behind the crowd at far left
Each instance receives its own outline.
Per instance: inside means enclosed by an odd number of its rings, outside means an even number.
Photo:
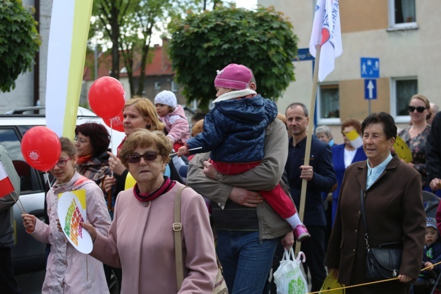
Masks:
[[[44,107],[26,107],[15,109],[7,114],[0,114],[0,143],[8,150],[17,173],[21,178],[20,200],[27,213],[44,220],[44,178],[43,173],[30,167],[21,155],[21,140],[23,135],[31,127],[46,125],[45,114],[34,114],[43,112]],[[88,109],[79,107],[76,125],[87,122],[96,122],[105,125],[103,120]],[[109,134],[112,134],[114,149],[118,147],[125,134],[112,130],[105,125]],[[21,211],[14,205],[14,233],[15,246],[12,248],[12,264],[14,274],[33,273],[45,270],[45,248],[46,245],[38,242],[25,232],[21,220]],[[112,275],[114,278],[114,275]],[[113,280],[113,279],[112,279]],[[119,282],[115,279],[111,293],[119,293]]]

